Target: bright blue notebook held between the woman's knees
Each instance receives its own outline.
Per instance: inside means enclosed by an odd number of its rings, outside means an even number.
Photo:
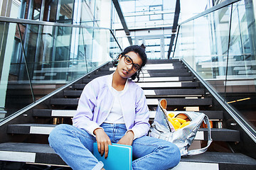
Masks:
[[[132,170],[132,146],[112,144],[109,145],[107,159],[97,150],[97,143],[93,143],[93,154],[98,161],[103,162],[106,170]]]

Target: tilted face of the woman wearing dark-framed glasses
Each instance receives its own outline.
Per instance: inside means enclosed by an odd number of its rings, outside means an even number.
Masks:
[[[117,72],[119,75],[127,79],[136,73],[136,70],[142,66],[142,59],[135,52],[128,52],[124,56],[119,57]],[[138,68],[139,67],[139,68]]]

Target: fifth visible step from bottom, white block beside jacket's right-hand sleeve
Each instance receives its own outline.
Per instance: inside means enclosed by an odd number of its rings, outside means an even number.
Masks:
[[[79,98],[82,90],[63,91],[63,96]],[[158,89],[144,90],[146,97],[203,96],[204,89]]]

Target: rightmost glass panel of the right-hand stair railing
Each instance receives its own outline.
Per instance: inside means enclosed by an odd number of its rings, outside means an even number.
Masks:
[[[256,30],[249,6],[245,1],[233,4],[225,101],[256,127]]]

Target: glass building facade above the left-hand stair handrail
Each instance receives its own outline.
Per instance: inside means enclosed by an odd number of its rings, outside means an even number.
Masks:
[[[17,17],[110,28],[111,4],[110,0],[21,0]]]

